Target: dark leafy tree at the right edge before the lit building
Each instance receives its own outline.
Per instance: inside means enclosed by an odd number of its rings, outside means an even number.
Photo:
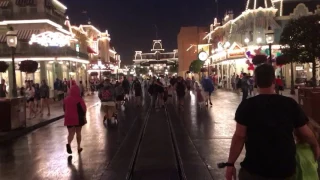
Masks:
[[[291,91],[294,90],[293,62],[312,63],[312,84],[316,85],[316,60],[320,57],[320,16],[310,15],[292,19],[285,26],[280,44],[282,53],[291,63]]]

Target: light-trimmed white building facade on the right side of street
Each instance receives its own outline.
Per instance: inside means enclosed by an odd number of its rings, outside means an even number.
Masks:
[[[266,34],[272,31],[271,55],[281,54],[279,41],[286,23],[292,18],[317,13],[318,4],[315,0],[248,0],[245,11],[239,16],[234,17],[232,11],[227,11],[221,23],[215,19],[204,37],[212,43],[210,61],[216,69],[215,74],[219,78],[226,77],[229,87],[232,75],[253,74],[248,69],[248,52],[253,55],[267,52]],[[280,70],[280,67],[276,68],[276,75],[280,75]],[[282,67],[282,72],[289,84],[289,68]]]

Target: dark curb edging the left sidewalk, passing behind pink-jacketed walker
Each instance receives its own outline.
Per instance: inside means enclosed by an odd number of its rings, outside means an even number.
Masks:
[[[93,105],[89,106],[88,109],[94,107],[94,106],[97,106],[99,104],[99,102],[97,103],[94,103]],[[53,122],[56,122],[60,119],[64,118],[64,115],[61,115],[61,116],[57,116],[57,117],[54,117],[52,119],[49,119],[49,120],[46,120],[46,121],[43,121],[43,122],[40,122],[38,124],[35,124],[33,126],[30,126],[30,127],[27,127],[27,128],[19,128],[19,129],[16,129],[16,130],[12,130],[10,132],[8,132],[8,134],[4,135],[4,136],[0,136],[0,144],[3,144],[3,143],[6,143],[6,142],[9,142],[9,141],[12,141],[12,140],[15,140],[21,136],[24,136],[34,130],[37,130],[41,127],[44,127],[44,126],[47,126]]]

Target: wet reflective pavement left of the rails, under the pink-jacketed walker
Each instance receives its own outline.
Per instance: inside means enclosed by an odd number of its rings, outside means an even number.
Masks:
[[[96,103],[97,100],[88,102]],[[116,129],[102,123],[100,105],[88,110],[88,123],[82,130],[81,154],[66,153],[67,129],[63,120],[42,127],[15,141],[0,145],[1,180],[99,179],[126,137],[137,112],[132,105],[119,112]],[[75,139],[71,145],[75,152]],[[72,157],[72,158],[71,158]],[[68,161],[70,160],[70,161]]]

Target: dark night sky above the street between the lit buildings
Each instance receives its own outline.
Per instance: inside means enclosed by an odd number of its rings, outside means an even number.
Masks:
[[[124,64],[131,64],[134,51],[149,52],[152,40],[163,42],[164,49],[177,49],[181,26],[207,26],[217,14],[215,0],[61,0],[68,7],[72,24],[91,19],[101,31],[111,34],[111,44]],[[219,17],[227,9],[239,14],[246,0],[218,0]],[[82,14],[82,11],[87,14]]]

